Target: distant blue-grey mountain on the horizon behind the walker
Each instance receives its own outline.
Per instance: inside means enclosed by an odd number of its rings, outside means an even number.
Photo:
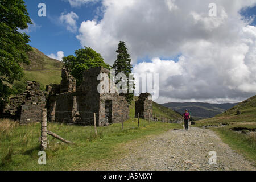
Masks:
[[[172,110],[184,113],[188,109],[193,119],[212,118],[217,114],[224,113],[226,110],[232,108],[238,103],[225,103],[225,104],[210,104],[205,102],[170,102],[162,104]]]

